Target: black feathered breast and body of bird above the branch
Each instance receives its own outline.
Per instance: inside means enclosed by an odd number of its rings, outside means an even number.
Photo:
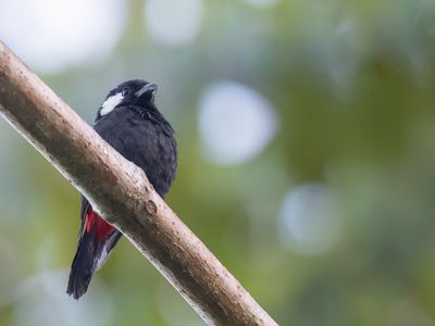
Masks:
[[[119,106],[99,118],[95,129],[125,159],[141,167],[156,191],[164,197],[175,177],[177,151],[172,127],[160,114],[157,117]]]

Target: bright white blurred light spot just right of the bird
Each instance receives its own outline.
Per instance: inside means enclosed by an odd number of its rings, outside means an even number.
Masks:
[[[256,90],[234,82],[206,89],[199,105],[202,152],[221,165],[259,154],[276,133],[275,112]]]

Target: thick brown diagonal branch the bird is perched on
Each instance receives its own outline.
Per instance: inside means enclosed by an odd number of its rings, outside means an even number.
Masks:
[[[157,195],[0,41],[0,115],[83,192],[210,325],[276,325]]]

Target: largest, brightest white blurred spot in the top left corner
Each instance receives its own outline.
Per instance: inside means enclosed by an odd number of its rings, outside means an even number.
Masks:
[[[0,38],[42,73],[108,57],[127,13],[123,0],[3,0],[2,8]]]

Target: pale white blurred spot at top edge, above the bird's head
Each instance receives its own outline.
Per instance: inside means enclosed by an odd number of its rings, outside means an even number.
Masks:
[[[159,41],[192,41],[202,23],[202,0],[148,0],[144,9],[147,30]]]

